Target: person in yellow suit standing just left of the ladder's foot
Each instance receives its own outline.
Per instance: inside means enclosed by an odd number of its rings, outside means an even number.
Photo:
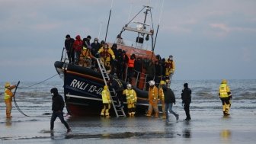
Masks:
[[[109,118],[111,100],[110,100],[110,92],[108,91],[107,85],[104,85],[103,91],[101,92],[101,96],[102,96],[102,103],[103,103],[103,107],[101,110],[101,117],[106,116],[107,118]]]

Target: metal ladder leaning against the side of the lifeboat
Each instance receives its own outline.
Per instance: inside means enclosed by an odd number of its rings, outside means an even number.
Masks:
[[[99,69],[101,70],[101,75],[102,75],[102,78],[104,80],[104,83],[105,85],[109,86],[109,82],[110,82],[110,77],[109,75],[107,74],[107,70],[104,66],[104,63],[101,61],[100,58],[96,58],[97,62],[98,62],[98,67]],[[114,90],[114,88],[109,88],[108,87],[108,90],[110,91],[110,100],[111,100],[111,103],[114,107],[114,111],[117,115],[117,117],[126,117],[126,114],[123,110],[123,107],[119,107],[118,105],[120,105],[120,101],[119,99],[117,98],[117,93],[116,91]],[[113,99],[116,100],[116,104],[115,102],[113,101]]]

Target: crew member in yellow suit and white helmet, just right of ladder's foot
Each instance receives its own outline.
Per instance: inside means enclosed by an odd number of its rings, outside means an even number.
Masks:
[[[127,84],[126,87],[127,89],[123,90],[123,94],[126,95],[128,114],[130,117],[134,117],[137,102],[136,91],[133,90],[132,85],[130,84]]]

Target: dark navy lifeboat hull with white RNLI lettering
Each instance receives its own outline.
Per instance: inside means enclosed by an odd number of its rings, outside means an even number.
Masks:
[[[64,82],[64,98],[69,114],[99,116],[102,108],[101,91],[105,85],[101,73],[59,61],[56,61],[54,66]],[[124,88],[125,85],[123,82]],[[148,93],[137,88],[135,91],[138,97],[136,114],[146,114],[149,106]],[[127,111],[126,102],[124,110]],[[114,108],[110,109],[110,115],[115,116]]]

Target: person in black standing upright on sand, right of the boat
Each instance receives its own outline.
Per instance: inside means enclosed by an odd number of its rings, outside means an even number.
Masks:
[[[184,120],[191,120],[190,117],[190,102],[191,102],[191,90],[188,88],[188,84],[184,83],[184,89],[182,90],[181,93],[181,99],[182,99],[182,105],[184,104],[184,110],[186,112],[186,119]]]

